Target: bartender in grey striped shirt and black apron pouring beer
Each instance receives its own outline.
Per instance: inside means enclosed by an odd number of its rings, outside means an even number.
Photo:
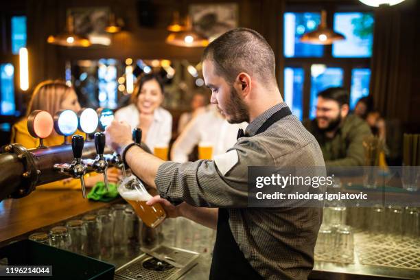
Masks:
[[[247,208],[248,165],[325,166],[281,98],[270,45],[254,30],[231,30],[205,49],[202,71],[227,121],[249,123],[233,148],[213,161],[165,162],[132,143],[130,126],[118,121],[106,129],[108,145],[159,191],[149,205],[217,229],[210,279],[307,279],[322,209]]]

